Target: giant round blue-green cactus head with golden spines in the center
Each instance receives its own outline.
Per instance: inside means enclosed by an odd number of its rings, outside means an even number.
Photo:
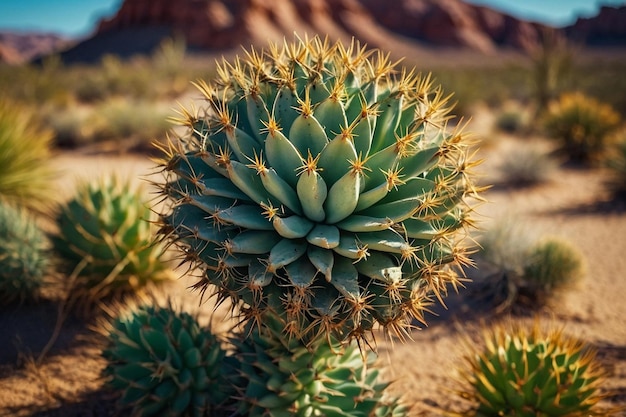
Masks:
[[[196,86],[164,147],[161,234],[243,321],[407,336],[468,262],[471,144],[429,77],[353,42],[250,50]]]

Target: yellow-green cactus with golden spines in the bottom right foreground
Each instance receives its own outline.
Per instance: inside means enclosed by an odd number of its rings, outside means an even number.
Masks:
[[[561,330],[528,332],[496,326],[485,348],[465,357],[465,390],[474,403],[465,416],[582,417],[596,414],[605,372],[595,352]]]

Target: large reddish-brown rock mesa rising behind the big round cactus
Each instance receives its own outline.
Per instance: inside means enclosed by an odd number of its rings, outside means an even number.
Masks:
[[[357,23],[358,22],[358,23]],[[280,40],[294,32],[367,38],[384,31],[425,44],[491,52],[527,50],[538,24],[461,0],[126,0],[97,33],[167,26],[192,47],[225,49]]]

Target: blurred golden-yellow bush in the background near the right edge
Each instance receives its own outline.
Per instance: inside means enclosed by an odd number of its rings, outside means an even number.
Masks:
[[[581,93],[563,94],[548,107],[545,128],[560,151],[576,163],[595,162],[607,148],[607,138],[620,123],[608,104]]]

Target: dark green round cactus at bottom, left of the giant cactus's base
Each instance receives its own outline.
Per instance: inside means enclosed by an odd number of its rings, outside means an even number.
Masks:
[[[230,396],[220,341],[171,306],[141,306],[105,328],[107,385],[132,416],[206,416]]]

